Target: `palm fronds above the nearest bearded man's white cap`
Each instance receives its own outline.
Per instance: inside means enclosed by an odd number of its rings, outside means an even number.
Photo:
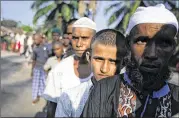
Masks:
[[[109,7],[107,7],[105,9],[105,15],[106,15],[106,14],[109,13],[110,10],[117,8],[117,10],[108,19],[108,26],[110,26],[114,22],[118,21],[118,24],[114,28],[121,31],[122,33],[124,33],[126,28],[127,28],[129,18],[136,11],[137,7],[139,7],[139,6],[151,6],[151,5],[156,5],[156,4],[159,4],[159,3],[168,4],[168,6],[171,7],[171,11],[173,11],[173,13],[179,19],[179,14],[178,14],[179,8],[176,5],[175,1],[171,1],[171,0],[118,1],[118,2],[115,2],[114,4],[111,4]]]

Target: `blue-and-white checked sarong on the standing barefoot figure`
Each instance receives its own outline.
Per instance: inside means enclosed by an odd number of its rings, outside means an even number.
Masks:
[[[32,99],[35,100],[37,96],[41,96],[45,89],[46,73],[42,68],[33,69],[32,80]]]

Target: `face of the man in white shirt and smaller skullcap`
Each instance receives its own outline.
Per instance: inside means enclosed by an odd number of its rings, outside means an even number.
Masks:
[[[90,47],[93,34],[93,30],[89,28],[74,28],[72,47],[77,56],[81,57],[83,52]]]

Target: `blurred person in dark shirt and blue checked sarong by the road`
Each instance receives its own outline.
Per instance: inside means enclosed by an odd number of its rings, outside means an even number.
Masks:
[[[47,46],[43,42],[43,36],[39,33],[34,35],[35,47],[33,49],[32,63],[32,103],[39,101],[41,94],[45,88],[46,73],[43,69],[45,62],[48,59]]]

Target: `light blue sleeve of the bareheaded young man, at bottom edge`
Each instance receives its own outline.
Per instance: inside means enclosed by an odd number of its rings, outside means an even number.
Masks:
[[[69,96],[63,93],[58,99],[55,117],[71,117],[71,109],[72,105]]]

